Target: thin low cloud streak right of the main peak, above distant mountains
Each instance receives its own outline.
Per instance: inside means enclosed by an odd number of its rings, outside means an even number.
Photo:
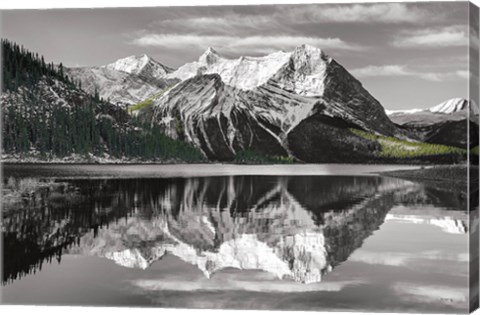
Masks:
[[[369,65],[363,68],[353,69],[350,71],[350,73],[358,78],[411,76],[435,82],[468,78],[468,71],[464,70],[458,70],[454,72],[426,72],[421,70],[413,70],[405,65]]]

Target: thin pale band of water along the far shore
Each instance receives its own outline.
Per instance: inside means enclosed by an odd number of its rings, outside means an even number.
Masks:
[[[3,175],[19,177],[204,177],[204,176],[381,176],[395,170],[418,169],[395,164],[4,164]]]

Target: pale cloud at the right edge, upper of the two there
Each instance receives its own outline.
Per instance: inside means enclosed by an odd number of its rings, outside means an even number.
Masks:
[[[458,47],[468,45],[468,30],[465,26],[449,26],[439,29],[426,29],[407,32],[399,36],[393,45],[410,47]]]

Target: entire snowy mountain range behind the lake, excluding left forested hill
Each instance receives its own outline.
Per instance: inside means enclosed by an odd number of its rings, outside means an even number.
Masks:
[[[454,162],[478,145],[475,128],[471,143],[466,137],[468,121],[478,127],[477,105],[452,99],[426,110],[386,111],[343,66],[309,45],[237,59],[208,48],[178,69],[141,55],[64,72],[81,90],[209,160]]]

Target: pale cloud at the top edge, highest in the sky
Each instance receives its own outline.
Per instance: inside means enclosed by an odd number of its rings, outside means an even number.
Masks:
[[[415,23],[438,15],[404,3],[301,6],[285,8],[290,20],[297,23]]]

